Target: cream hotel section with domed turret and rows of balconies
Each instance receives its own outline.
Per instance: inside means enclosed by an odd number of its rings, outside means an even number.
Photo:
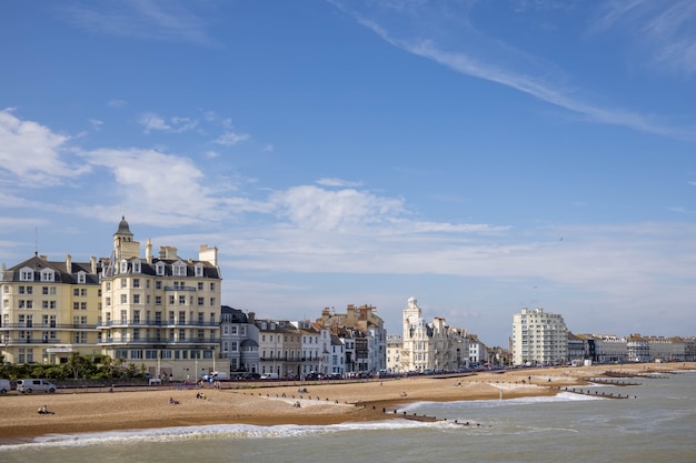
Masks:
[[[173,246],[145,255],[125,218],[101,269],[101,352],[152,376],[181,380],[217,371],[220,345],[220,270],[217,248],[197,260]],[[226,366],[227,368],[227,366]]]

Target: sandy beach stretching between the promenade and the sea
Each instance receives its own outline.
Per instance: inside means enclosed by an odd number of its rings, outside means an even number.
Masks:
[[[8,394],[0,397],[0,440],[3,443],[54,433],[192,426],[221,423],[336,424],[398,416],[400,404],[420,401],[506,400],[553,395],[559,387],[587,384],[606,372],[646,374],[694,370],[696,363],[597,365],[520,369],[503,373],[415,376],[369,382],[284,383],[268,386],[239,383],[222,389],[113,393],[74,392]],[[307,389],[307,392],[299,392]],[[197,399],[198,392],[205,399]],[[170,404],[170,399],[177,404]],[[297,406],[299,404],[299,406]],[[47,405],[52,414],[39,414]],[[387,413],[385,413],[385,410]]]

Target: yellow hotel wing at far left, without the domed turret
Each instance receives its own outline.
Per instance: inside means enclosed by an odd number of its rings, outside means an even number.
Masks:
[[[34,255],[2,264],[0,353],[8,363],[67,363],[100,353],[101,262]]]

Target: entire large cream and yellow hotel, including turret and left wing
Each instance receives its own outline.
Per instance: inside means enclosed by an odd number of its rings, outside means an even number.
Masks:
[[[105,354],[163,378],[195,379],[217,369],[220,326],[218,250],[198,260],[177,249],[140,254],[128,222],[110,258],[2,265],[0,352],[11,363],[64,363],[71,353]],[[227,363],[227,362],[226,362]],[[228,369],[226,364],[221,369]]]

